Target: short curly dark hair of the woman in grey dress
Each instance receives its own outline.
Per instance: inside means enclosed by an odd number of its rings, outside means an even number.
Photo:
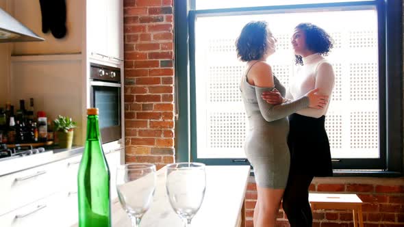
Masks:
[[[251,21],[245,25],[236,40],[237,57],[242,62],[260,59],[268,49],[270,31],[265,21]]]

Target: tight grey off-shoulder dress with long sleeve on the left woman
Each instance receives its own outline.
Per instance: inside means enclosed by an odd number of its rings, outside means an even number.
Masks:
[[[244,152],[254,168],[259,187],[284,189],[288,181],[290,153],[287,144],[289,122],[287,116],[309,105],[307,96],[280,105],[270,105],[261,94],[273,88],[259,88],[242,77],[240,90],[249,119]],[[285,88],[274,76],[275,88],[285,95]]]

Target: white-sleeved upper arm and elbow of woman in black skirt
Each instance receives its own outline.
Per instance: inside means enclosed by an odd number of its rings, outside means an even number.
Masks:
[[[329,64],[329,62],[320,63],[320,65],[318,65],[315,77],[316,82],[314,88],[319,88],[320,94],[323,94],[325,96],[331,96],[335,79],[334,71],[331,64]],[[312,118],[320,118],[325,114],[326,111],[327,106],[321,109],[314,109],[314,108],[301,109],[297,111],[297,114],[301,114],[303,116]]]

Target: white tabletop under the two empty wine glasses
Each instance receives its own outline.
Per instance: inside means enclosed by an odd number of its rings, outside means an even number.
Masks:
[[[206,166],[206,191],[201,209],[192,219],[192,227],[236,227],[244,215],[244,194],[250,167]],[[183,227],[166,196],[166,168],[157,171],[153,203],[144,214],[142,227]],[[136,196],[134,194],[133,196]],[[74,225],[77,227],[78,224]],[[130,227],[131,222],[118,200],[112,202],[112,227]]]

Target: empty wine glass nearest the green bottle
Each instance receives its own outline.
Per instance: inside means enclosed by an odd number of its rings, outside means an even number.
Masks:
[[[119,202],[131,218],[132,226],[140,226],[140,220],[153,201],[155,185],[154,164],[131,163],[116,170]]]

